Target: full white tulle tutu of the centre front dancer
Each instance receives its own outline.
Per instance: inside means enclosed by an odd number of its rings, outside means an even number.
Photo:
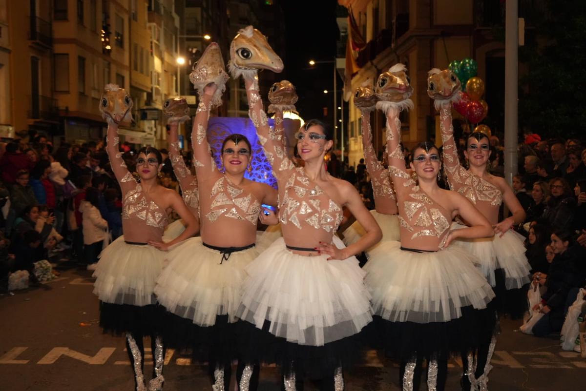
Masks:
[[[334,238],[336,246],[343,243]],[[278,238],[250,266],[238,317],[275,337],[322,346],[357,334],[372,321],[364,272],[352,256],[301,256]]]

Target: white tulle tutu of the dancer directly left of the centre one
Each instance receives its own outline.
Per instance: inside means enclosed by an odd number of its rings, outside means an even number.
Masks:
[[[217,315],[234,322],[247,275],[244,269],[257,255],[253,247],[223,259],[220,251],[204,246],[202,238],[189,238],[168,252],[156,281],[156,297],[167,311],[199,326],[215,324]]]

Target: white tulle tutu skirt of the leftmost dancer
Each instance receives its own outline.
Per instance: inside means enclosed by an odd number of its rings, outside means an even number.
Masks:
[[[166,254],[153,246],[128,244],[120,236],[100,254],[94,294],[110,304],[156,304],[155,282]]]

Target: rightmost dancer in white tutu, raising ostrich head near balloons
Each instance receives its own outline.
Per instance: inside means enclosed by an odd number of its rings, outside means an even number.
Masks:
[[[435,108],[440,111],[444,166],[449,187],[475,205],[492,224],[495,235],[493,238],[458,240],[454,246],[478,258],[479,270],[496,293],[496,300],[491,306],[493,310],[505,311],[513,318],[520,318],[527,307],[526,289],[523,286],[530,281],[531,267],[525,256],[524,238],[511,227],[524,221],[525,211],[505,179],[488,172],[490,143],[487,135],[475,132],[468,136],[464,156],[468,160],[469,169],[461,166],[451,113],[451,101],[458,96],[459,90],[460,82],[451,71],[440,71],[437,68],[430,71],[428,95],[435,100]],[[512,216],[499,222],[499,208],[503,201]],[[460,216],[452,229],[463,229],[469,224],[468,219]],[[476,363],[471,362],[471,357],[462,357],[468,372],[462,376],[464,389],[475,389],[476,386],[486,389],[491,368],[490,357],[496,343],[496,317],[494,314],[495,322],[491,322],[495,324],[493,330],[486,327],[485,335],[481,335]]]

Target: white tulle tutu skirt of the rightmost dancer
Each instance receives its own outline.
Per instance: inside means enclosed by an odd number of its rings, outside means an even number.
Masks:
[[[452,229],[461,228],[466,226],[456,222],[452,224]],[[478,258],[479,270],[490,286],[496,286],[495,270],[503,269],[507,290],[523,287],[530,281],[531,269],[525,256],[524,238],[512,229],[509,229],[502,238],[499,235],[496,234],[493,238],[458,239],[452,242],[452,245],[465,249]]]

